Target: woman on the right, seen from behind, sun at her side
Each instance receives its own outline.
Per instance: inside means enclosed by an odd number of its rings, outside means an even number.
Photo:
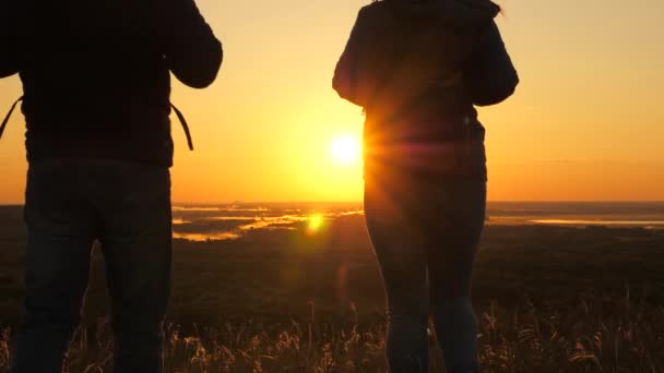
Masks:
[[[448,372],[478,372],[471,276],[486,208],[474,106],[519,83],[488,0],[382,0],[359,11],[335,70],[361,106],[365,214],[388,299],[392,372],[427,372],[429,314]]]

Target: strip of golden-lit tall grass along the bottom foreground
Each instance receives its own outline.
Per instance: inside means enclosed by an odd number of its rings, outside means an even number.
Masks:
[[[180,326],[167,324],[165,371],[277,372],[284,366],[310,366],[298,371],[329,372],[344,366],[341,372],[386,372],[382,322],[358,324],[353,303],[354,317],[347,322],[321,322],[313,317],[315,304],[310,304],[311,317],[295,318],[292,326],[278,318],[260,325],[238,321],[226,323],[224,333],[218,326],[203,325],[189,335]],[[607,318],[606,310],[615,310],[615,315]],[[612,371],[616,372],[660,372],[657,366],[663,366],[661,340],[653,330],[661,330],[664,314],[643,310],[633,300],[584,296],[567,305],[534,308],[525,302],[514,312],[494,304],[479,311],[478,358],[486,371],[518,366],[519,372],[538,372],[542,361],[552,372],[608,371],[603,366],[615,366]],[[567,320],[573,322],[564,322]],[[67,354],[70,371],[108,370],[114,353],[110,335],[108,320],[83,325]],[[0,372],[9,371],[10,341],[10,330],[0,329]],[[443,370],[439,359],[432,359],[431,370]]]

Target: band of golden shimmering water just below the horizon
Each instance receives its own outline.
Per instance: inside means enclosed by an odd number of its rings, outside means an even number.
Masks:
[[[252,232],[301,229],[316,234],[344,216],[361,216],[360,203],[233,203],[175,206],[174,237],[236,240]],[[663,203],[489,203],[489,225],[558,225],[664,229]]]

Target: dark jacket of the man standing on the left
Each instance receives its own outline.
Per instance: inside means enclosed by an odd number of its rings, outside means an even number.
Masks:
[[[29,161],[173,164],[169,72],[203,88],[223,59],[193,0],[0,4],[0,77],[23,81]]]

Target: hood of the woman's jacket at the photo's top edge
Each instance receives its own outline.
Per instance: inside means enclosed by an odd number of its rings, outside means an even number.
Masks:
[[[383,0],[395,11],[431,19],[455,28],[476,28],[490,23],[500,7],[490,0]]]

